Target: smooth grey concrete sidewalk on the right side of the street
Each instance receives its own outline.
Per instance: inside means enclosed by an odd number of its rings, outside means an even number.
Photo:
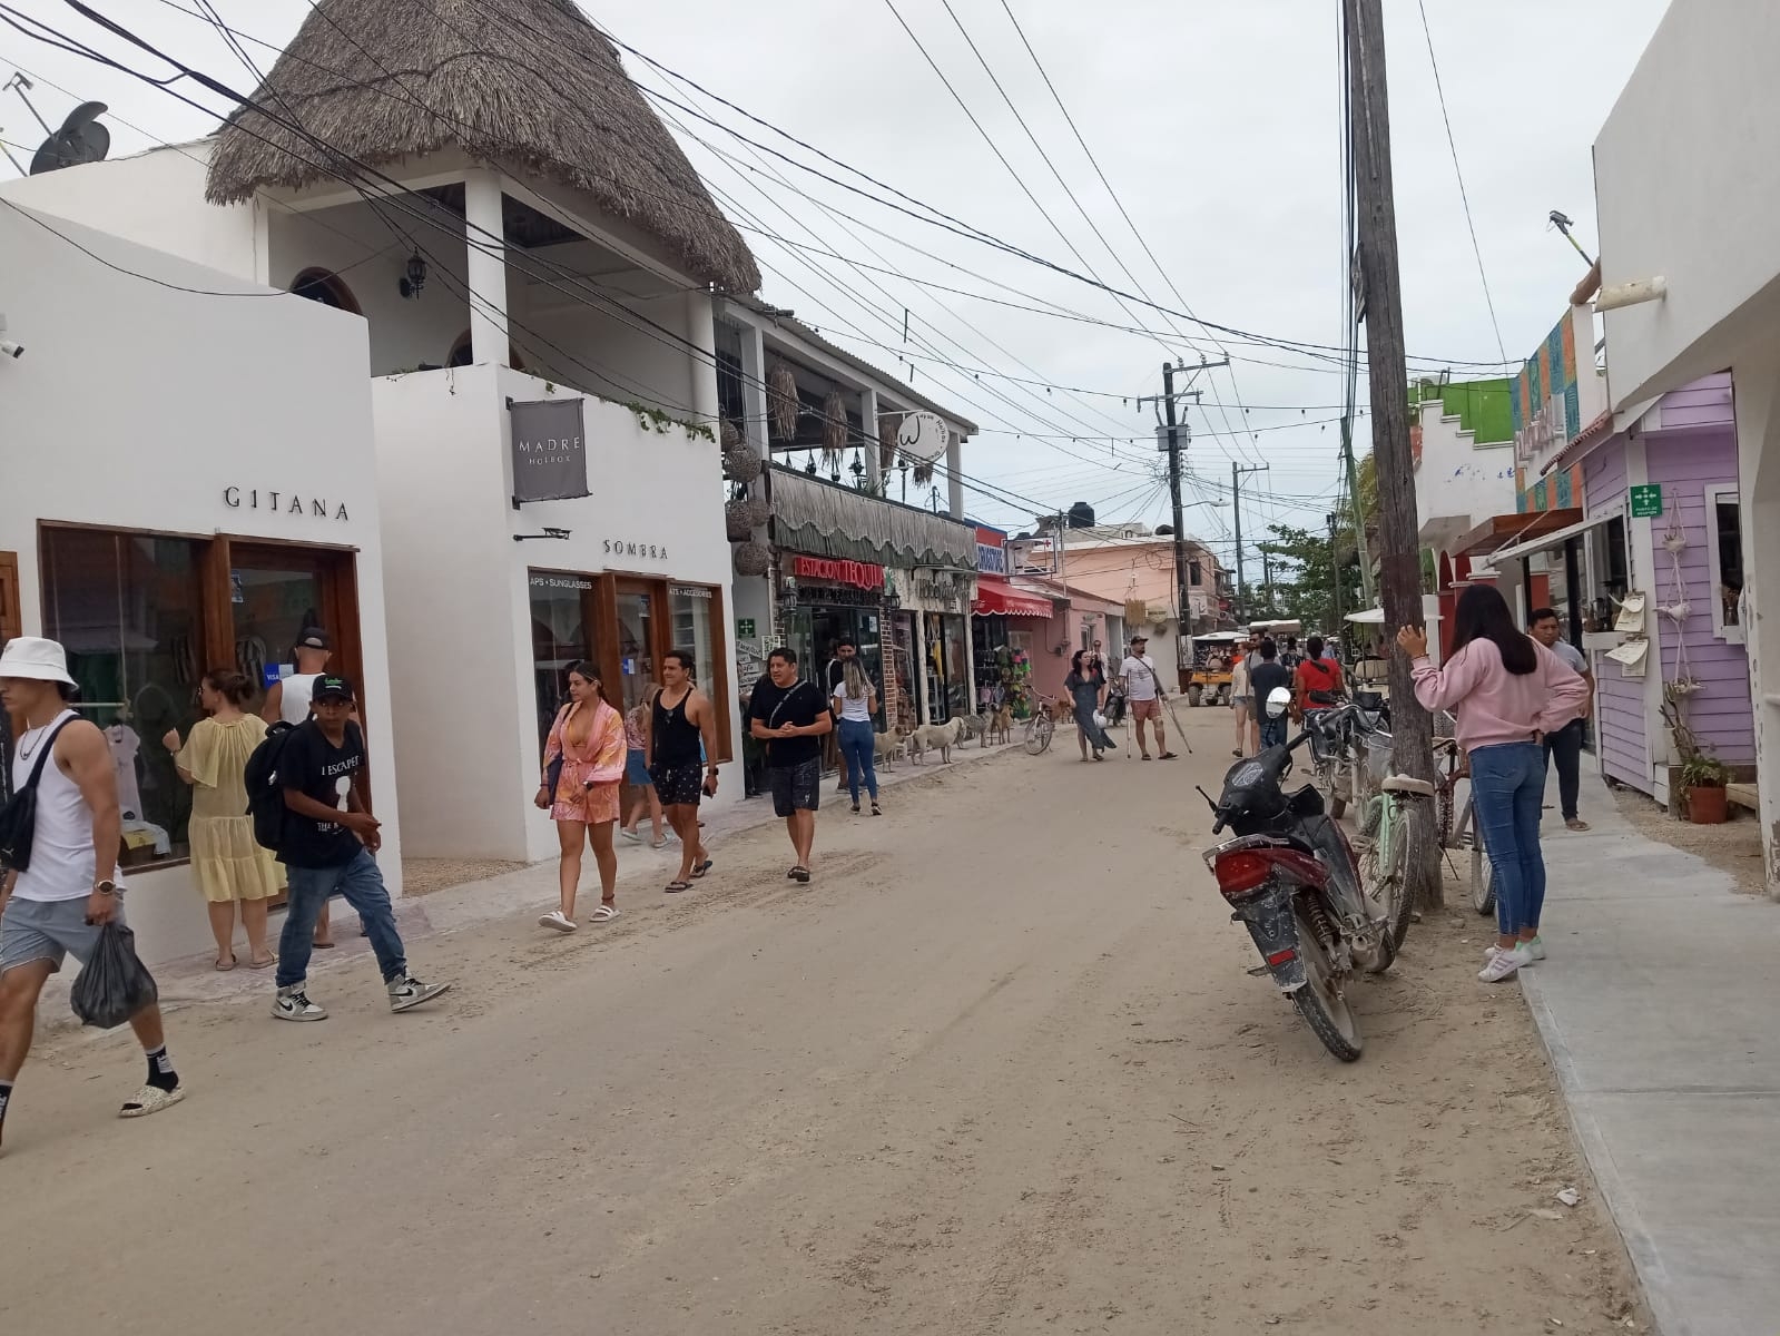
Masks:
[[[1547,798],[1550,958],[1522,989],[1663,1336],[1780,1331],[1780,905],[1582,780]]]

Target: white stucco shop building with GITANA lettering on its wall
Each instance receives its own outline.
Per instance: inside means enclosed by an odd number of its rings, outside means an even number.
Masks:
[[[105,729],[144,958],[210,942],[162,736],[196,721],[205,672],[276,680],[310,620],[360,684],[399,894],[365,322],[4,201],[0,255],[23,346],[0,358],[0,641],[62,641]]]

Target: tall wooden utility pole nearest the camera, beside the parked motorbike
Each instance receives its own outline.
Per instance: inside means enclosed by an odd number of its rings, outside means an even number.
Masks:
[[[1397,627],[1422,625],[1422,561],[1417,533],[1420,525],[1415,518],[1415,470],[1410,456],[1410,376],[1403,338],[1403,283],[1397,269],[1397,207],[1390,178],[1385,5],[1383,0],[1342,0],[1342,9],[1358,219],[1355,273],[1360,281],[1367,378],[1372,390],[1372,463],[1378,470],[1378,531],[1383,550],[1380,593],[1388,645]],[[1390,654],[1390,734],[1392,770],[1433,780],[1433,720],[1415,698],[1410,661],[1401,650]],[[1419,866],[1410,869],[1412,891],[1419,905],[1438,908],[1444,896],[1433,812],[1420,823],[1420,834]]]

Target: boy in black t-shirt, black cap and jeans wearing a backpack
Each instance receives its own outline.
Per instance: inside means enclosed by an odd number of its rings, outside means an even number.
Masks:
[[[383,873],[372,857],[383,844],[377,819],[365,811],[365,734],[352,723],[352,684],[344,677],[315,679],[313,714],[299,723],[278,754],[285,791],[285,828],[278,860],[290,880],[290,908],[278,939],[279,1021],[326,1021],[328,1012],[304,992],[315,916],[338,892],[358,910],[390,994],[390,1010],[406,1012],[438,998],[450,983],[422,983],[408,973],[402,939]]]

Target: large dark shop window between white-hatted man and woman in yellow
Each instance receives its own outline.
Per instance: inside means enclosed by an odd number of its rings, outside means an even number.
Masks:
[[[160,739],[192,725],[198,679],[212,666],[203,663],[199,556],[201,545],[183,538],[43,534],[43,629],[68,650],[77,709],[110,745],[125,868],[189,855],[190,789]]]

